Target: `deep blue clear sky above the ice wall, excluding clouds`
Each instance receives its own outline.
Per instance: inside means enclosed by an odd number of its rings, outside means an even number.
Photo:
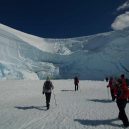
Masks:
[[[49,38],[111,31],[127,0],[0,0],[0,23]]]

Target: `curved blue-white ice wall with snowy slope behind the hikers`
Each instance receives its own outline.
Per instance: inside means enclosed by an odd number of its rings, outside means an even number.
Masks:
[[[0,24],[0,79],[103,80],[129,72],[129,28],[91,36],[45,39]]]

